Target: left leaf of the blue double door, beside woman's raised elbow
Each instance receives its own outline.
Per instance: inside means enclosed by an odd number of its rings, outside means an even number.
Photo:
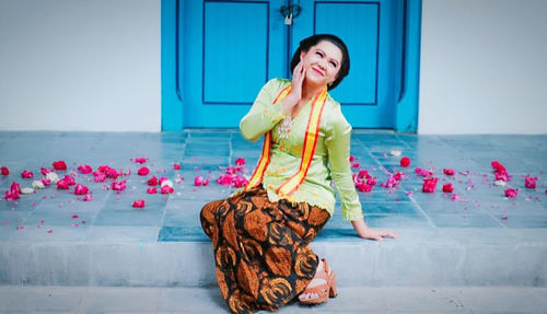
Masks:
[[[270,1],[185,1],[185,127],[237,127],[260,88],[283,77],[286,26]]]

